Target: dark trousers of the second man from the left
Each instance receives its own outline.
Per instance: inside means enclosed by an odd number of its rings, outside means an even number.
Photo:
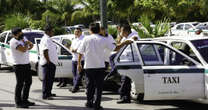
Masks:
[[[53,63],[45,64],[42,66],[42,69],[43,69],[43,85],[42,85],[43,97],[49,97],[53,87],[56,65]]]

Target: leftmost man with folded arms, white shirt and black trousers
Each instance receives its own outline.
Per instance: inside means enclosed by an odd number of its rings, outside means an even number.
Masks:
[[[13,38],[10,40],[10,47],[17,80],[15,106],[16,108],[28,108],[28,106],[35,105],[35,103],[28,101],[32,84],[29,50],[33,48],[33,44],[24,37],[22,30],[18,27],[12,29],[12,34]]]

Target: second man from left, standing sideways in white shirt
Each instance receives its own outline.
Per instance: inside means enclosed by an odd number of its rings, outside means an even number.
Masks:
[[[53,28],[51,26],[45,27],[45,34],[40,41],[40,65],[43,70],[43,90],[42,98],[51,100],[53,81],[55,77],[56,64],[58,64],[58,55],[56,44],[52,41]]]

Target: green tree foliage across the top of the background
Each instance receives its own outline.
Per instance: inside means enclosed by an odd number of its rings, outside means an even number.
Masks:
[[[56,26],[89,24],[99,20],[100,0],[0,0],[0,26],[5,25],[7,16],[21,13],[32,20],[30,27],[41,27],[46,22],[46,13]],[[137,22],[146,15],[153,23],[163,18],[170,21],[207,21],[208,0],[107,0],[107,18],[119,23],[127,20]],[[75,8],[81,5],[81,8]],[[49,13],[50,12],[50,13]],[[55,16],[54,16],[54,15]],[[34,23],[33,23],[34,22]]]

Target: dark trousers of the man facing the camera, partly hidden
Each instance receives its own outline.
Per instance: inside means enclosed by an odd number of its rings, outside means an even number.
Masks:
[[[84,61],[81,62],[82,67],[84,67]],[[73,88],[78,89],[81,84],[82,77],[84,75],[84,70],[77,73],[77,61],[72,61],[72,73],[73,73]]]

